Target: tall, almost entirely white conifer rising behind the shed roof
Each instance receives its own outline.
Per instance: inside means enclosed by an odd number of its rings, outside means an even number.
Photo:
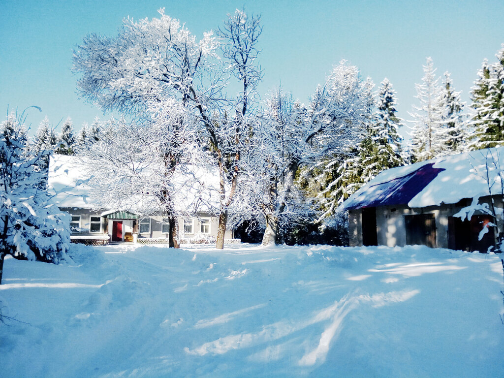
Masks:
[[[419,106],[413,106],[414,126],[411,132],[411,150],[413,161],[422,161],[437,156],[443,150],[443,108],[440,106],[440,86],[439,79],[435,76],[435,69],[432,59],[427,58],[427,63],[423,66],[424,76],[421,84],[415,84],[419,101]]]

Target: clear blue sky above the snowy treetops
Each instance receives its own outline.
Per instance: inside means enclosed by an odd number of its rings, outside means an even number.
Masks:
[[[70,116],[80,129],[97,115],[107,117],[76,93],[72,50],[86,34],[114,36],[124,17],[152,18],[164,7],[202,37],[243,5],[262,16],[262,95],[281,83],[306,102],[331,68],[347,59],[375,84],[389,78],[406,119],[427,56],[438,75],[452,73],[455,89],[468,101],[483,58],[494,61],[504,43],[502,0],[0,0],[0,111],[37,105],[42,112],[25,113],[32,128],[47,115],[53,125]]]

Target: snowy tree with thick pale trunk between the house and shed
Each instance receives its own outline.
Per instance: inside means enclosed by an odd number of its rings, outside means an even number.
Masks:
[[[265,101],[254,143],[243,157],[246,178],[242,180],[247,182],[239,187],[240,208],[233,213],[265,224],[265,245],[280,241],[282,224],[309,212],[294,182],[302,159],[305,115],[304,106],[293,101],[290,93],[274,90]]]

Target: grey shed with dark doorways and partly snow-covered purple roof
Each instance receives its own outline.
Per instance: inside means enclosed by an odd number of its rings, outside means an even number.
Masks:
[[[503,176],[504,148],[386,170],[343,203],[349,214],[350,245],[422,244],[486,251],[503,229]],[[472,217],[460,218],[461,211]]]

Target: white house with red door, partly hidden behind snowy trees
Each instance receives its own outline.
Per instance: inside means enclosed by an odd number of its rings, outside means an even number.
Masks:
[[[159,242],[169,236],[168,219],[162,212],[142,215],[131,209],[107,209],[93,197],[88,185],[89,174],[75,156],[55,155],[49,162],[48,190],[54,195],[60,210],[72,216],[71,239],[93,240],[96,243],[108,241],[151,241]],[[200,193],[201,194],[201,193]],[[207,194],[208,195],[208,194]],[[193,202],[194,196],[188,190],[178,194],[178,204],[183,206]],[[134,205],[135,199],[132,199]],[[132,206],[135,208],[135,206]],[[204,208],[185,219],[179,219],[179,236],[184,241],[205,241],[217,237],[218,217],[210,209]],[[144,240],[142,240],[144,239]],[[233,239],[233,230],[225,233],[226,242]]]

